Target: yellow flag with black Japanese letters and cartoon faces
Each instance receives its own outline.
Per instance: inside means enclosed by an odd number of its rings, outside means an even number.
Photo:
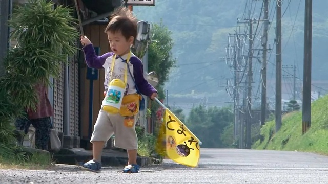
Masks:
[[[168,108],[164,123],[167,156],[179,164],[197,167],[200,157],[198,138]]]

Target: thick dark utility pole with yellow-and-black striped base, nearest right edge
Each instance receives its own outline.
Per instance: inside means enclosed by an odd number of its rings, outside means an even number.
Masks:
[[[311,127],[312,0],[305,0],[302,134]]]

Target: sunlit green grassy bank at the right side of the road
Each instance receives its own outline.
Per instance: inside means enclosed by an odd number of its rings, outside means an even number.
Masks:
[[[261,129],[264,140],[258,140],[253,149],[304,151],[328,154],[328,96],[312,103],[311,128],[302,135],[302,112],[285,114],[282,126],[275,132],[275,120]]]

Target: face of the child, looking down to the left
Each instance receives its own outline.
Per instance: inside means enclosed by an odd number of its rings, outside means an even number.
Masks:
[[[115,54],[122,56],[130,52],[134,39],[132,36],[127,40],[120,31],[116,33],[107,32],[107,36],[111,50]]]

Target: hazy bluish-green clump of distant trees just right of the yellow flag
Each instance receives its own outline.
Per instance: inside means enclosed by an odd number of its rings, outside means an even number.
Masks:
[[[224,148],[221,135],[223,130],[233,122],[233,114],[229,108],[199,105],[190,111],[186,125],[202,141],[205,148]]]

